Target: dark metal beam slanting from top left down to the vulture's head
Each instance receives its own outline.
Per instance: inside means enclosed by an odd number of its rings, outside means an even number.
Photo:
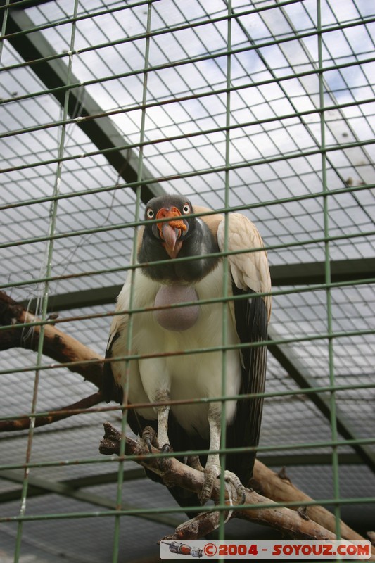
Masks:
[[[22,10],[11,9],[8,13],[6,34],[14,34],[26,30],[32,30],[34,24],[28,15]],[[45,39],[42,32],[9,37],[8,41],[13,48],[23,57],[26,62],[38,61],[30,65],[32,71],[45,84],[46,89],[61,88],[52,92],[56,100],[63,106],[65,100],[65,86],[68,77],[68,65],[61,58],[49,61],[39,61],[46,57],[53,57],[57,53],[51,44]],[[71,84],[80,84],[80,80],[70,74]],[[77,108],[80,115],[77,116]],[[114,123],[106,116],[105,110],[90,96],[84,86],[75,87],[70,90],[68,113],[71,117],[79,117],[77,126],[87,134],[103,156],[117,171],[125,182],[138,182],[139,158],[132,148],[115,150],[116,147],[124,147],[127,140],[120,134]],[[97,116],[97,118],[95,118]],[[113,149],[113,150],[108,150]],[[141,186],[141,199],[144,203],[155,196],[165,194],[164,189],[156,183],[147,182],[152,177],[151,172],[142,164],[142,179],[145,183]],[[133,188],[135,191],[135,188]]]

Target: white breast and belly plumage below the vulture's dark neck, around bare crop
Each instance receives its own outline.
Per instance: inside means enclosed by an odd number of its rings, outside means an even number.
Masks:
[[[220,298],[222,288],[222,262],[205,279],[194,286],[198,298]],[[222,303],[203,304],[199,306],[196,324],[184,331],[169,331],[160,327],[151,310],[155,296],[160,289],[158,282],[152,281],[141,271],[136,272],[134,279],[134,309],[145,308],[147,312],[132,315],[132,354],[153,355],[152,358],[140,358],[130,362],[129,366],[129,400],[131,403],[155,402],[160,390],[170,390],[172,400],[189,400],[196,398],[217,397],[222,395],[222,352],[201,352],[191,354],[189,350],[215,348],[222,346]],[[230,291],[230,289],[229,289]],[[229,293],[230,294],[230,293]],[[125,284],[119,296],[119,307],[129,308],[129,287]],[[236,344],[236,334],[232,315],[229,312],[227,328],[227,344]],[[115,355],[125,355],[126,338],[122,335],[113,346]],[[125,346],[124,346],[125,344]],[[183,355],[173,355],[186,350]],[[154,355],[160,354],[159,357]],[[172,355],[171,355],[172,354]],[[241,379],[240,355],[238,350],[228,350],[225,354],[225,369],[232,377],[227,378],[224,394],[236,395]],[[122,379],[124,370],[116,362],[113,371]],[[117,372],[117,373],[116,373]],[[233,377],[234,376],[234,377]],[[123,383],[123,381],[122,381]],[[226,418],[230,422],[234,415],[234,401],[227,402]],[[142,409],[139,412],[145,417],[157,418],[156,410]],[[202,436],[209,436],[208,404],[172,406],[172,412],[179,424],[188,431],[198,431]]]

